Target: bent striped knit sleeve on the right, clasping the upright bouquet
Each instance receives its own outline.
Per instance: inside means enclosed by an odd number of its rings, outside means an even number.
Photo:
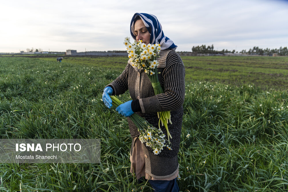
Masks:
[[[176,52],[169,52],[160,84],[164,85],[164,93],[139,99],[142,113],[174,111],[183,105],[185,68],[181,57]]]

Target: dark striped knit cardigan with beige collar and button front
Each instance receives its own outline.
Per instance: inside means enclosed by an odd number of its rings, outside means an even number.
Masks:
[[[157,71],[159,82],[164,93],[155,95],[151,82],[143,69],[138,69],[128,61],[122,74],[117,77],[111,86],[115,95],[123,94],[129,90],[133,100],[139,100],[141,112],[136,114],[144,117],[154,127],[158,128],[158,111],[171,111],[171,121],[168,124],[170,139],[173,150],[164,148],[158,155],[154,155],[153,150],[142,145],[145,156],[145,172],[154,178],[168,178],[175,174],[178,169],[178,152],[180,145],[180,134],[183,117],[183,102],[185,96],[185,68],[180,56],[172,50],[161,50],[158,60]],[[139,136],[139,132],[128,117],[128,125],[131,137]],[[164,126],[161,130],[166,135]],[[131,153],[133,145],[131,146]],[[131,154],[132,155],[132,154]]]

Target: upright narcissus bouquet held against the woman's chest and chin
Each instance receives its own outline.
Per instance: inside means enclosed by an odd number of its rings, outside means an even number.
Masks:
[[[134,43],[130,43],[129,37],[125,38],[124,45],[127,47],[127,52],[129,54],[128,57],[130,58],[132,65],[138,69],[144,69],[145,73],[147,73],[152,87],[154,88],[155,95],[164,93],[157,75],[158,62],[156,58],[161,50],[160,45],[152,45],[150,43],[146,45],[145,43],[142,43],[141,40],[138,42],[135,41]],[[168,130],[168,121],[170,124],[172,124],[170,111],[157,112],[157,115],[159,118],[158,126],[160,128],[160,122],[162,126],[165,126],[169,141],[169,138],[172,138]]]

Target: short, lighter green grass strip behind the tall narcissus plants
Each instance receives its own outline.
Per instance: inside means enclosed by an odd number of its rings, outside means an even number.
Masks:
[[[262,89],[288,89],[288,57],[268,56],[183,56],[186,80],[254,83]],[[55,61],[56,58],[43,58]],[[123,70],[127,57],[64,57],[63,62]]]

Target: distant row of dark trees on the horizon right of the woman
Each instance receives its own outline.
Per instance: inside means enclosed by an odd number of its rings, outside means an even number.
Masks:
[[[210,46],[208,45],[201,45],[201,46],[193,46],[192,47],[193,53],[238,53],[235,50],[228,51],[227,49],[223,49],[221,51],[214,50],[213,44]],[[288,49],[287,47],[280,47],[279,49],[262,49],[259,47],[253,47],[253,49],[249,49],[249,51],[242,50],[240,53],[248,54],[248,55],[270,55],[272,56],[274,53],[278,54],[279,56],[288,56]]]

